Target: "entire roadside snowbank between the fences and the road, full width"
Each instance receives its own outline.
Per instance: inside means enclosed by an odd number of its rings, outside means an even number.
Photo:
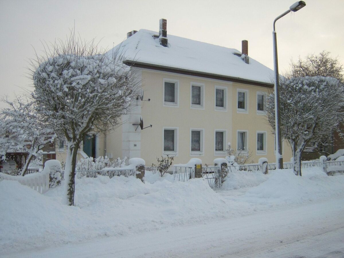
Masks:
[[[133,176],[83,177],[76,179],[72,207],[62,204],[62,186],[39,194],[3,180],[0,250],[6,254],[130,236],[344,198],[344,175],[327,176],[321,168],[303,169],[302,174],[295,176],[291,169],[267,175],[232,171],[220,191],[213,191],[207,180],[179,182],[151,171],[146,171],[145,184]]]

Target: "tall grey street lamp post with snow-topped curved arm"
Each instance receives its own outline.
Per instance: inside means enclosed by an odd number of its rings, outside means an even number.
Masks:
[[[283,157],[282,157],[282,141],[281,141],[281,128],[280,128],[280,104],[279,104],[279,78],[278,78],[278,61],[277,61],[277,36],[275,30],[275,23],[278,19],[282,18],[284,15],[292,12],[296,12],[304,7],[306,3],[304,1],[298,1],[289,7],[289,10],[285,11],[279,15],[273,21],[273,67],[275,69],[275,141],[276,141],[276,165],[278,169],[283,169]]]

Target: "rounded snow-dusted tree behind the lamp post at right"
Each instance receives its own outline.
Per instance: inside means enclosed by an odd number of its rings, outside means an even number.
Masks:
[[[307,143],[328,135],[344,118],[344,89],[335,78],[305,76],[281,78],[281,136],[291,145],[294,172],[301,175],[301,157]],[[275,130],[275,96],[267,96],[268,121]]]

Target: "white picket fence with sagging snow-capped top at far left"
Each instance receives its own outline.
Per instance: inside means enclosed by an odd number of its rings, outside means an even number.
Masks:
[[[45,166],[41,173],[32,173],[25,176],[14,176],[0,173],[0,178],[18,181],[22,185],[27,185],[39,193],[45,193],[49,190],[49,175],[50,169],[48,166]]]

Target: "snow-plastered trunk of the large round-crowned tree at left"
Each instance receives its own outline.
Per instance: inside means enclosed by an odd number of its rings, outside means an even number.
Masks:
[[[65,180],[65,203],[68,204],[69,206],[74,205],[75,165],[76,165],[77,153],[78,153],[78,144],[76,144],[76,142],[68,142],[64,180]]]

